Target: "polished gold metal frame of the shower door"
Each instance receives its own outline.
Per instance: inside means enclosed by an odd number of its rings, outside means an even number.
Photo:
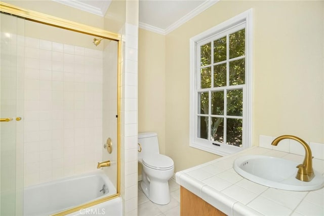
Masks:
[[[71,31],[76,31],[80,33],[85,33],[89,35],[93,35],[95,37],[100,37],[104,39],[109,39],[112,41],[118,42],[118,53],[117,53],[117,58],[118,58],[118,66],[117,66],[117,193],[114,195],[111,195],[109,197],[97,199],[93,202],[89,202],[83,205],[78,205],[73,208],[61,211],[59,213],[53,214],[53,215],[66,215],[72,212],[75,212],[77,210],[83,209],[83,208],[88,208],[93,205],[97,205],[99,203],[108,201],[110,199],[119,197],[120,195],[120,84],[121,84],[121,37],[117,33],[112,33],[100,28],[96,28],[93,26],[61,19],[58,17],[50,16],[47,14],[35,12],[35,11],[30,11],[30,10],[25,10],[23,8],[18,8],[16,6],[0,2],[0,11],[11,14],[14,16],[17,16],[19,18],[23,18],[26,20],[46,24],[46,25],[51,25],[55,26],[58,28],[63,28]]]

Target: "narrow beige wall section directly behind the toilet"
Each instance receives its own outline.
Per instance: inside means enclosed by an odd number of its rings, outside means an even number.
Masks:
[[[138,131],[156,132],[160,152],[165,154],[165,36],[140,28],[138,43]]]

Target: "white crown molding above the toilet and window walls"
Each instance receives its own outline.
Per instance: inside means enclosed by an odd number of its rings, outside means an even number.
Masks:
[[[146,30],[149,30],[149,31],[159,33],[159,34],[167,35],[171,31],[173,31],[176,28],[180,27],[181,25],[183,25],[184,23],[186,23],[187,21],[189,21],[193,17],[197,16],[201,12],[204,12],[205,10],[212,7],[214,4],[216,4],[218,2],[219,2],[219,0],[207,0],[206,2],[204,2],[203,4],[201,4],[197,8],[195,8],[194,10],[190,11],[189,13],[187,13],[186,15],[181,17],[178,21],[171,24],[166,29],[157,28],[155,26],[148,25],[148,24],[141,23],[141,22],[139,23],[139,27],[143,28],[143,29],[146,29]]]

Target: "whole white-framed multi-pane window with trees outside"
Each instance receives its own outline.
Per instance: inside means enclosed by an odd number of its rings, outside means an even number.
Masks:
[[[190,146],[251,146],[252,9],[190,39]]]

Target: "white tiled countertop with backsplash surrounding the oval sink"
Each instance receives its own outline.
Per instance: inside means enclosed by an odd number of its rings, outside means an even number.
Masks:
[[[267,155],[302,163],[304,156],[251,147],[176,173],[176,182],[227,215],[324,215],[324,188],[285,191],[240,176],[232,168],[243,155]],[[313,159],[313,169],[324,173],[324,160]]]

